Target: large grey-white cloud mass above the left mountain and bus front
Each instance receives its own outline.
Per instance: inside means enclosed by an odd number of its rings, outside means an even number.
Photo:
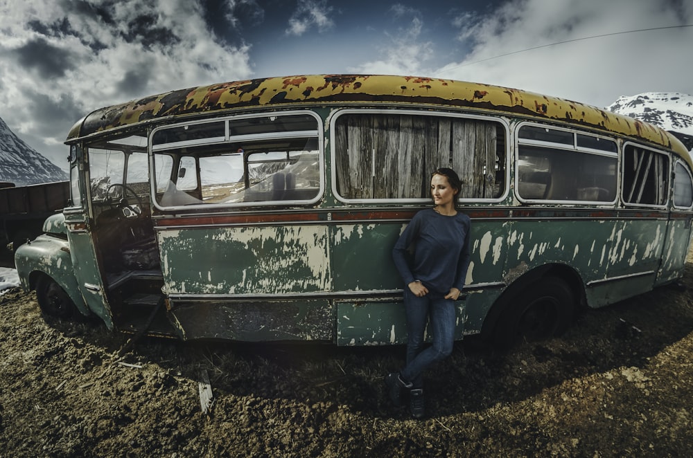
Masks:
[[[249,46],[227,42],[204,15],[188,0],[1,2],[0,117],[41,136],[33,147],[43,153],[94,109],[249,77]]]

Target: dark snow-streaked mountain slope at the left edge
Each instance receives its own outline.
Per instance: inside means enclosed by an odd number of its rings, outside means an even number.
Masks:
[[[24,143],[0,118],[0,181],[26,186],[67,178],[60,167]]]

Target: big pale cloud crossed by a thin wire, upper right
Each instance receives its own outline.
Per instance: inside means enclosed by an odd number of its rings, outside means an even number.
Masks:
[[[492,14],[455,17],[457,39],[471,52],[440,66],[434,75],[518,87],[601,107],[618,95],[690,93],[690,78],[682,84],[681,73],[693,71],[688,58],[693,28],[597,37],[683,24],[693,24],[690,2],[509,1]],[[556,44],[560,42],[564,43]],[[555,45],[545,46],[550,44]]]

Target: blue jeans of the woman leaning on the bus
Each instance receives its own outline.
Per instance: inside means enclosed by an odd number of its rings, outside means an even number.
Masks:
[[[431,292],[416,297],[405,288],[404,305],[407,311],[407,365],[400,374],[405,381],[413,383],[414,388],[423,388],[423,371],[453,352],[455,302]],[[429,333],[432,332],[433,336],[432,345],[424,349],[427,318],[430,318]]]

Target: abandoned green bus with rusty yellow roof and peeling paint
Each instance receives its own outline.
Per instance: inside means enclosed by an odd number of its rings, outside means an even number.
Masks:
[[[71,203],[19,248],[61,316],[184,340],[405,342],[392,247],[452,167],[471,217],[457,338],[560,333],[683,275],[692,161],[674,136],[516,89],[308,75],[173,91],[69,132]]]

